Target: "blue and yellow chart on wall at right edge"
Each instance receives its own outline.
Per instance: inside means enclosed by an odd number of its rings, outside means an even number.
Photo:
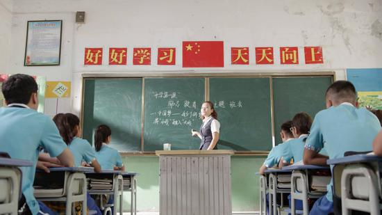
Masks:
[[[347,80],[356,87],[360,106],[382,109],[382,68],[347,69]]]

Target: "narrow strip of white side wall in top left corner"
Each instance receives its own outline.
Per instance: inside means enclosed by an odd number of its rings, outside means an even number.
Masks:
[[[11,26],[12,2],[0,0],[0,74],[9,72]]]

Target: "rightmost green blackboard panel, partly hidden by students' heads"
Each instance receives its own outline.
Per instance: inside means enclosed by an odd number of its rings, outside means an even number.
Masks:
[[[306,112],[312,118],[325,109],[325,92],[333,77],[274,77],[274,126],[276,144],[281,143],[281,124],[294,114]]]

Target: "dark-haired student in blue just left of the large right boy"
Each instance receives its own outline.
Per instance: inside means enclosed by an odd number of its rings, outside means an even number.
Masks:
[[[306,138],[308,138],[308,133],[310,126],[312,125],[312,118],[308,113],[297,113],[292,119],[292,127],[290,131],[292,132],[294,139],[285,143],[283,154],[284,164],[290,164],[293,159],[294,163],[302,161],[304,155],[304,145]]]

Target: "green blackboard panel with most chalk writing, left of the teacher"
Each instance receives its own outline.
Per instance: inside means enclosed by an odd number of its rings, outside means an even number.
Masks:
[[[191,129],[201,125],[204,85],[204,78],[144,79],[144,151],[163,150],[163,143],[172,150],[199,149]]]

